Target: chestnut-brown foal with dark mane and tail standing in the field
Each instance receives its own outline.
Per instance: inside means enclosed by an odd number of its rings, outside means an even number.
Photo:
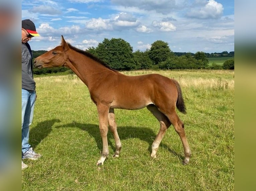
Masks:
[[[135,110],[144,107],[147,107],[160,123],[160,130],[152,144],[151,157],[156,157],[159,144],[167,128],[172,124],[184,148],[183,164],[189,162],[191,152],[184,124],[175,110],[177,107],[180,112],[186,113],[177,81],[159,74],[123,75],[90,53],[71,46],[63,36],[61,38],[61,45],[37,57],[34,60],[34,65],[38,68],[66,66],[88,87],[91,99],[97,106],[103,142],[102,155],[97,165],[103,165],[109,154],[108,126],[115,138],[114,157],[119,157],[121,141],[117,133],[114,108]]]

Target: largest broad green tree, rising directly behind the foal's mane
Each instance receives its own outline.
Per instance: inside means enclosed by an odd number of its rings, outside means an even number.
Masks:
[[[95,49],[96,56],[115,70],[132,70],[136,68],[131,45],[121,38],[105,38]]]

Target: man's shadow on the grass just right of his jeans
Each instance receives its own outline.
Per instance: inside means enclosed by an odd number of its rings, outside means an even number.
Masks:
[[[36,146],[51,132],[53,124],[57,122],[60,122],[60,120],[45,120],[31,128],[29,130],[29,144],[33,148],[36,148]]]

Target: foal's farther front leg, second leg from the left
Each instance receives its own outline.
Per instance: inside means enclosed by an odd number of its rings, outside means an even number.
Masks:
[[[119,153],[122,148],[122,145],[121,145],[119,135],[117,133],[117,124],[116,124],[116,120],[115,120],[114,109],[109,109],[108,124],[109,124],[110,131],[113,133],[113,136],[115,139],[116,151],[115,151],[115,154],[113,157],[119,157]]]

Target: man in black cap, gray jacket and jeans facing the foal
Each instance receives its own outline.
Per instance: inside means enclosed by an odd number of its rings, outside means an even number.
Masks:
[[[34,36],[40,36],[36,32],[35,24],[29,20],[22,20],[21,24],[21,56],[22,56],[22,127],[21,127],[21,150],[22,159],[37,160],[41,157],[40,154],[36,153],[31,145],[28,143],[29,140],[29,126],[32,123],[34,106],[36,100],[35,92],[35,81],[33,79],[33,63],[32,63],[32,51],[28,41]],[[21,169],[27,167],[27,165],[21,159]]]

